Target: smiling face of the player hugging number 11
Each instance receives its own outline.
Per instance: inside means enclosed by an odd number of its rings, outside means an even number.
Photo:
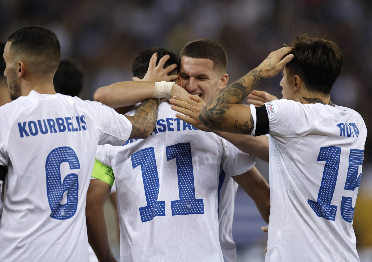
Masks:
[[[190,58],[182,56],[179,75],[182,80],[182,87],[189,94],[198,95],[207,104],[219,94],[226,86],[226,73],[221,73],[214,68],[210,59]]]

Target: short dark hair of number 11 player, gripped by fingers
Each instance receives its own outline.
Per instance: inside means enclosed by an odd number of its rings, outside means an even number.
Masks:
[[[168,73],[168,75],[176,75],[180,71],[179,59],[177,58],[177,55],[175,53],[165,48],[157,48],[152,46],[143,50],[134,59],[132,63],[133,76],[136,76],[141,79],[144,78],[145,74],[147,73],[148,64],[150,63],[151,56],[153,56],[154,53],[158,53],[156,65],[159,63],[159,60],[165,55],[169,55],[170,58],[164,64],[163,68],[166,68],[167,66],[173,64],[177,64],[177,67],[173,71]]]

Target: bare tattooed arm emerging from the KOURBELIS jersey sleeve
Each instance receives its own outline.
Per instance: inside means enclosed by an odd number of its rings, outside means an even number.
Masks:
[[[130,138],[142,138],[155,128],[158,118],[159,99],[147,99],[137,108],[132,122]]]

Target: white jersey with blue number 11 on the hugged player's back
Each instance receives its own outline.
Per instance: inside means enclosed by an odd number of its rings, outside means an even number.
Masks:
[[[223,261],[220,166],[234,176],[248,171],[254,160],[175,113],[162,101],[148,139],[97,150],[97,159],[115,174],[121,261]]]

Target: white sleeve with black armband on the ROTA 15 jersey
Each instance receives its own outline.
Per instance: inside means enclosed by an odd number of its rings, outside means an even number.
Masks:
[[[315,127],[321,115],[320,112],[314,114],[314,110],[310,110],[309,106],[287,99],[266,102],[258,108],[250,105],[254,120],[251,135],[257,136],[265,133],[280,137],[304,135]],[[267,121],[264,119],[267,119]],[[259,130],[267,131],[260,132]]]

